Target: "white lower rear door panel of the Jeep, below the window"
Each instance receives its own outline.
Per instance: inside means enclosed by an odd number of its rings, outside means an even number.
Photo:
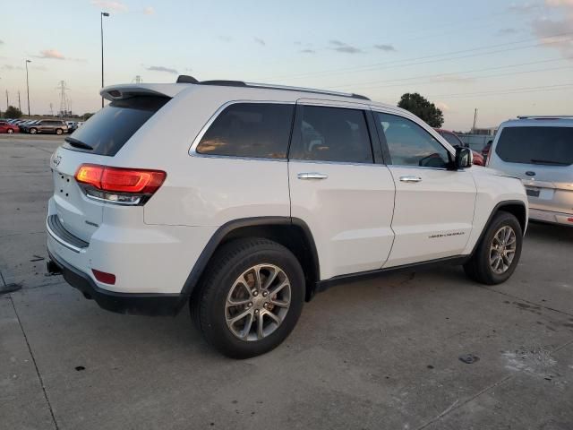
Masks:
[[[394,182],[382,165],[292,160],[291,216],[304,219],[320,255],[321,279],[380,269],[394,233]],[[323,179],[301,179],[320,173]]]

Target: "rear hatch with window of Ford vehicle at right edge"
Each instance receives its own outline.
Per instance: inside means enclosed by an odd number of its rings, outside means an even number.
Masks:
[[[573,126],[506,126],[495,156],[521,178],[532,208],[573,213]]]

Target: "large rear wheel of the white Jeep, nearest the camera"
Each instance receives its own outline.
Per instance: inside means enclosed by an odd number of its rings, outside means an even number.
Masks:
[[[278,347],[303,310],[304,272],[285,246],[264,238],[223,245],[193,292],[192,320],[205,340],[232,358]]]

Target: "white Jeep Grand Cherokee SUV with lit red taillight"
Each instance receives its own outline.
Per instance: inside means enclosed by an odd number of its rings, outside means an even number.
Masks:
[[[429,262],[516,269],[524,187],[418,117],[245,82],[116,85],[51,159],[49,271],[101,307],[176,314],[252,357],[340,281]],[[349,292],[349,294],[352,294]]]

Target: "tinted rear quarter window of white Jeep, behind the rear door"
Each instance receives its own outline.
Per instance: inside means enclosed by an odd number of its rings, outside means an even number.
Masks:
[[[215,119],[197,152],[247,158],[286,159],[294,105],[235,103]]]

